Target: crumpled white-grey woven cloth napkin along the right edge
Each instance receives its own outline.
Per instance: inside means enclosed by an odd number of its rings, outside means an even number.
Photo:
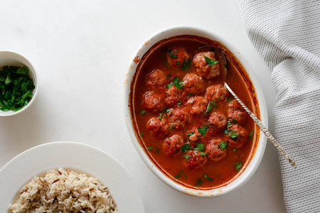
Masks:
[[[252,44],[272,69],[274,136],[287,212],[320,212],[320,1],[239,0]]]

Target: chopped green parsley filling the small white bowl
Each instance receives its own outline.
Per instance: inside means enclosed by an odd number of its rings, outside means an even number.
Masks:
[[[35,88],[26,66],[4,66],[0,68],[0,109],[18,111],[28,104]]]

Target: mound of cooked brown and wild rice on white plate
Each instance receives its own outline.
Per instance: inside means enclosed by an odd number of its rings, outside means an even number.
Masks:
[[[97,178],[67,171],[49,170],[45,177],[35,176],[20,190],[20,197],[9,205],[22,212],[117,212],[107,187]]]

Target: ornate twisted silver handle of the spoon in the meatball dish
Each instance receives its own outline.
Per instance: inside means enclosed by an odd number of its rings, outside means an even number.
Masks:
[[[292,165],[293,168],[297,168],[296,163],[294,162],[294,160],[292,160],[292,158],[289,157],[289,155],[286,153],[286,151],[284,151],[284,149],[282,148],[282,146],[280,146],[280,144],[275,140],[275,138],[271,135],[270,131],[267,131],[267,129],[265,128],[265,126],[262,124],[262,122],[257,118],[257,116],[255,116],[255,114],[253,114],[250,109],[247,108],[247,106],[245,106],[245,104],[240,100],[240,98],[235,94],[235,92],[233,92],[232,89],[230,89],[230,87],[228,86],[228,84],[225,82],[225,87],[229,90],[229,92],[231,94],[233,94],[233,96],[235,97],[235,99],[240,103],[240,105],[243,107],[243,109],[245,109],[245,111],[247,111],[247,114],[250,115],[250,117],[253,119],[253,121],[255,121],[255,124],[257,124],[257,126],[260,127],[260,129],[262,130],[263,133],[265,133],[265,136],[267,136],[267,138],[269,139],[269,141],[271,141],[271,143],[273,143],[273,145],[277,148],[277,150],[279,151],[279,153],[281,153],[284,158],[286,158],[287,160],[289,160],[289,163]]]

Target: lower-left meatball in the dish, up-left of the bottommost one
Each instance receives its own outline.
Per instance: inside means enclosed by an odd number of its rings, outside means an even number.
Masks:
[[[162,148],[164,148],[164,153],[166,153],[166,155],[173,157],[181,153],[180,147],[183,145],[183,143],[184,141],[181,136],[174,135],[164,140]]]

